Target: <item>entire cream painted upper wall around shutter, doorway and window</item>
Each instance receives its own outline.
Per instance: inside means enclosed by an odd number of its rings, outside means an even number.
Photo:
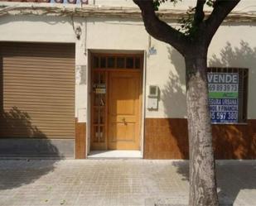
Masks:
[[[0,18],[0,41],[35,41],[35,42],[75,42],[76,87],[75,117],[86,122],[88,50],[145,50],[152,47],[156,54],[147,55],[146,93],[148,86],[157,85],[161,98],[157,111],[146,109],[146,117],[186,117],[186,87],[184,60],[176,50],[165,43],[151,39],[142,22],[128,19],[80,18],[74,19],[74,26],[82,28],[80,40],[75,38],[70,17],[14,17]],[[85,23],[86,22],[86,23]],[[248,117],[256,118],[256,25],[229,24],[217,31],[209,50],[209,65],[249,68],[249,107]],[[221,54],[229,54],[227,42],[230,42],[237,59],[228,63],[216,61]],[[241,42],[245,42],[241,45]],[[85,43],[86,42],[86,43]],[[225,55],[223,55],[225,58]],[[213,56],[215,57],[215,63]],[[82,67],[79,67],[82,65]],[[81,78],[80,68],[84,69],[86,80]],[[146,98],[147,107],[147,98]]]

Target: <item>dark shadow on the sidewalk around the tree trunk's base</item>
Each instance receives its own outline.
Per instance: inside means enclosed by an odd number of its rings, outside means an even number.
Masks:
[[[189,181],[188,162],[173,162],[172,165],[176,167],[176,172],[183,176],[183,180]],[[246,160],[217,160],[216,177],[220,205],[231,206],[243,189],[256,189],[256,164]],[[244,205],[240,201],[236,204]]]

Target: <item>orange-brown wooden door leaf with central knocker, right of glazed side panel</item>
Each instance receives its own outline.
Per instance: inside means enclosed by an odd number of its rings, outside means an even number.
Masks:
[[[139,150],[140,73],[109,74],[109,150]]]

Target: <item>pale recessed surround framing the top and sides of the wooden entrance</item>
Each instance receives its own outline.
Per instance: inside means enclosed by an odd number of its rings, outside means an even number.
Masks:
[[[88,50],[88,86],[87,86],[87,92],[88,92],[88,100],[87,100],[87,129],[86,129],[86,154],[89,155],[90,151],[93,151],[91,149],[91,143],[90,143],[90,136],[91,136],[91,127],[92,127],[92,59],[94,55],[112,55],[112,56],[118,56],[118,55],[140,55],[142,60],[142,68],[140,72],[140,84],[141,84],[141,95],[140,95],[140,122],[139,122],[139,141],[140,141],[140,150],[141,155],[143,157],[143,147],[144,147],[144,124],[145,124],[145,89],[146,89],[146,51],[145,50]]]

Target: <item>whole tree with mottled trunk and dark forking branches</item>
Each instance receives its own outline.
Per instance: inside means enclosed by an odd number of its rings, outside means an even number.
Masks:
[[[133,0],[142,10],[147,32],[159,41],[175,47],[186,61],[186,105],[190,150],[190,206],[219,205],[215,159],[212,148],[207,85],[207,50],[221,22],[240,0],[215,0],[213,12],[205,20],[205,0],[196,1],[195,33],[185,36],[162,22],[153,0]],[[165,1],[158,1],[165,2]],[[196,27],[195,27],[196,26]]]

